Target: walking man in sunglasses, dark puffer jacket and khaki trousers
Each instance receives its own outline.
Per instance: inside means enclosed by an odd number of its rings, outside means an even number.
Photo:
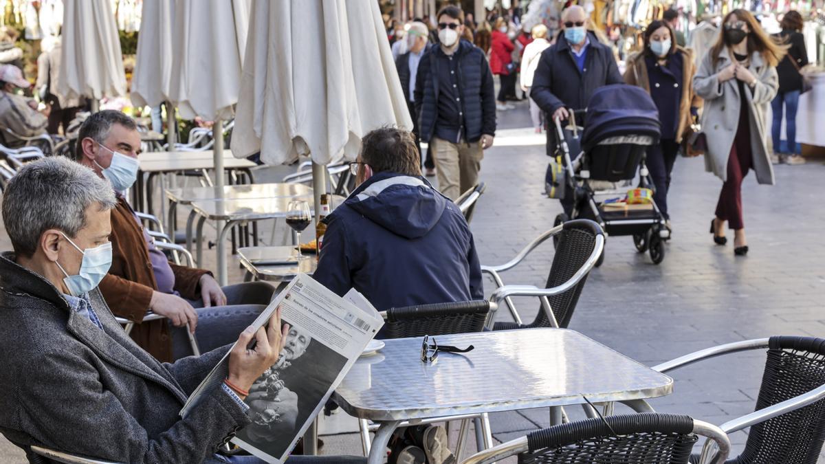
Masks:
[[[466,40],[464,12],[438,13],[440,45],[418,64],[415,107],[421,140],[431,146],[438,188],[455,200],[479,180],[483,149],[493,146],[496,101],[484,52]]]

